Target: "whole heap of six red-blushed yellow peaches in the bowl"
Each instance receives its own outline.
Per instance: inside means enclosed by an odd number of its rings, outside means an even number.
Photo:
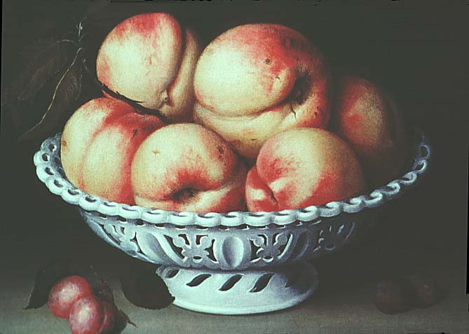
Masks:
[[[107,94],[69,118],[74,186],[113,202],[191,212],[280,211],[385,185],[408,134],[388,92],[332,76],[299,32],[233,27],[205,48],[167,13],[119,23],[97,54]],[[164,116],[164,117],[161,117]]]

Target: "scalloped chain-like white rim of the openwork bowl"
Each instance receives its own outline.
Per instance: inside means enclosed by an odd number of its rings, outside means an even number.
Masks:
[[[62,168],[60,160],[61,134],[58,132],[55,136],[44,140],[40,150],[34,154],[36,174],[51,193],[59,195],[65,202],[77,205],[80,209],[97,211],[101,215],[140,219],[150,224],[198,225],[204,228],[240,225],[259,227],[272,223],[288,225],[296,221],[306,223],[321,218],[332,218],[342,213],[356,214],[365,209],[379,207],[389,200],[400,197],[406,190],[415,186],[427,171],[432,156],[432,147],[428,142],[428,137],[423,131],[414,127],[412,133],[414,162],[412,167],[399,178],[365,195],[328,202],[320,206],[312,205],[283,211],[178,212],[111,202],[76,188],[67,180]]]

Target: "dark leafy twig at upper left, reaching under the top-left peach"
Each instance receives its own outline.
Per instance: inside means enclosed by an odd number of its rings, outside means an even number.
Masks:
[[[13,81],[10,90],[2,92],[1,101],[2,106],[9,107],[13,123],[22,133],[18,141],[43,139],[53,134],[57,127],[63,127],[80,98],[92,98],[82,96],[83,74],[95,87],[94,95],[105,92],[130,104],[138,113],[166,120],[160,111],[145,108],[141,102],[109,89],[90,70],[88,43],[93,37],[102,38],[100,34],[86,32],[86,29],[95,31],[93,23],[93,20],[84,17],[76,23],[74,31],[66,32],[58,39],[51,37],[36,41],[24,48],[21,61],[26,66]],[[41,98],[44,100],[42,103]]]

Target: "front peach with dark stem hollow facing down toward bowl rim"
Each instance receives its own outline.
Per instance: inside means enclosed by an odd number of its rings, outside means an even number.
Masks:
[[[173,211],[243,210],[247,170],[218,134],[190,123],[151,134],[132,163],[135,202]]]

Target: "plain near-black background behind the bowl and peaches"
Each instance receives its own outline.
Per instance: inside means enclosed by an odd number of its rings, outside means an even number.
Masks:
[[[88,1],[3,1],[2,90],[22,67],[18,62],[22,46],[79,19],[88,5]],[[360,244],[337,254],[334,261],[318,262],[323,275],[330,274],[323,291],[332,286],[334,277],[344,275],[350,278],[346,287],[412,268],[461,266],[467,247],[467,242],[460,241],[467,234],[469,143],[469,6],[465,1],[401,0],[373,5],[306,0],[116,1],[111,6],[118,7],[129,8],[129,13],[135,8],[168,11],[194,27],[205,42],[246,22],[288,25],[311,39],[335,72],[357,74],[393,92],[409,122],[428,134],[434,158],[424,182],[387,204],[386,214]],[[124,261],[123,253],[95,237],[76,209],[50,194],[36,178],[32,156],[44,138],[16,143],[17,136],[8,109],[2,108],[1,238],[23,244],[41,238],[80,239],[101,244]],[[22,252],[10,256],[21,260]],[[39,265],[29,263],[32,274]],[[374,269],[353,270],[355,265]]]

